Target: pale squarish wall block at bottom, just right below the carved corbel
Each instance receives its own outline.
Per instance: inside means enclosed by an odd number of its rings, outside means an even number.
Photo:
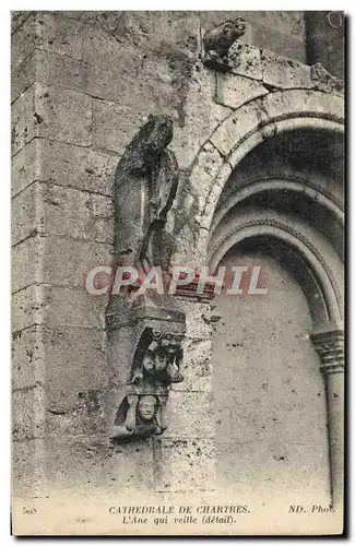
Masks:
[[[155,491],[215,488],[212,440],[154,440]]]

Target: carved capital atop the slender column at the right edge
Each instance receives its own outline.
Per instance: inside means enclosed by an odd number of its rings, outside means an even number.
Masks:
[[[320,356],[320,369],[323,373],[344,372],[344,329],[340,324],[329,324],[310,333],[317,353]]]

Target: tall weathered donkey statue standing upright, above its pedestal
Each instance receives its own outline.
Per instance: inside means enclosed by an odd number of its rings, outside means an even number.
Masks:
[[[149,260],[155,232],[166,223],[178,186],[168,116],[150,116],[125,151],[115,175],[115,251],[120,265]]]

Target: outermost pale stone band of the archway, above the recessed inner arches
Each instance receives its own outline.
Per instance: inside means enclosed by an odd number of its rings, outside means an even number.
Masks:
[[[191,240],[192,256],[205,260],[206,232],[220,195],[241,159],[267,139],[305,129],[342,134],[343,98],[311,90],[277,91],[240,106],[216,128],[197,155],[189,176],[199,232]]]

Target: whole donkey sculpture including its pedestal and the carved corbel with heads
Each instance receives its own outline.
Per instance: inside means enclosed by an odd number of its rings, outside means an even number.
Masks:
[[[114,189],[117,266],[146,271],[156,265],[165,273],[168,271],[174,236],[164,227],[179,178],[176,157],[167,149],[171,139],[173,120],[168,116],[150,116],[117,166]],[[173,299],[174,296],[135,292],[110,298],[106,309],[108,339],[109,343],[120,345],[119,363],[113,361],[113,367],[120,366],[115,375],[119,392],[108,402],[113,439],[125,441],[162,435],[166,429],[169,389],[171,383],[184,379],[180,368],[185,314],[176,309]],[[127,328],[128,323],[130,335],[120,337],[121,325]],[[114,354],[117,359],[116,349]]]

